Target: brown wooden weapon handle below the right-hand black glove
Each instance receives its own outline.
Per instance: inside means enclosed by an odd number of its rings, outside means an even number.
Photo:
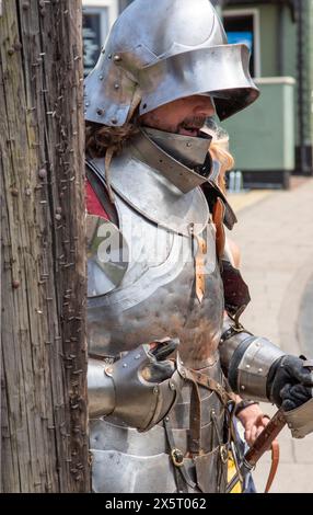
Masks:
[[[270,448],[271,443],[285,425],[286,419],[283,411],[278,410],[245,454],[244,459],[251,467],[254,467],[264,453]]]

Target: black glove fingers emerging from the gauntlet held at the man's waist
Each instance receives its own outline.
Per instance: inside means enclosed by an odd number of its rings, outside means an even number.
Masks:
[[[150,344],[148,352],[149,365],[141,370],[142,377],[149,382],[162,382],[172,377],[175,363],[166,359],[179,345],[178,339],[165,339]]]

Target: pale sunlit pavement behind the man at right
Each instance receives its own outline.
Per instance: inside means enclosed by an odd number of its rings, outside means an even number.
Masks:
[[[287,353],[313,357],[313,180],[294,185],[287,192],[230,195],[239,224],[229,236],[240,245],[241,270],[253,299],[242,322]],[[262,405],[268,414],[276,411]],[[294,439],[285,428],[279,443],[271,492],[313,493],[313,435]],[[254,471],[259,492],[269,461],[267,453]]]

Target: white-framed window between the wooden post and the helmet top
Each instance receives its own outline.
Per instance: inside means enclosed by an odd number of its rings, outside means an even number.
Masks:
[[[83,60],[88,75],[95,66],[101,47],[118,14],[118,0],[83,0]]]

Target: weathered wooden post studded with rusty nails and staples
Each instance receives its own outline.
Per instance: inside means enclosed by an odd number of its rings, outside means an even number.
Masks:
[[[90,490],[80,0],[2,0],[1,488]]]

